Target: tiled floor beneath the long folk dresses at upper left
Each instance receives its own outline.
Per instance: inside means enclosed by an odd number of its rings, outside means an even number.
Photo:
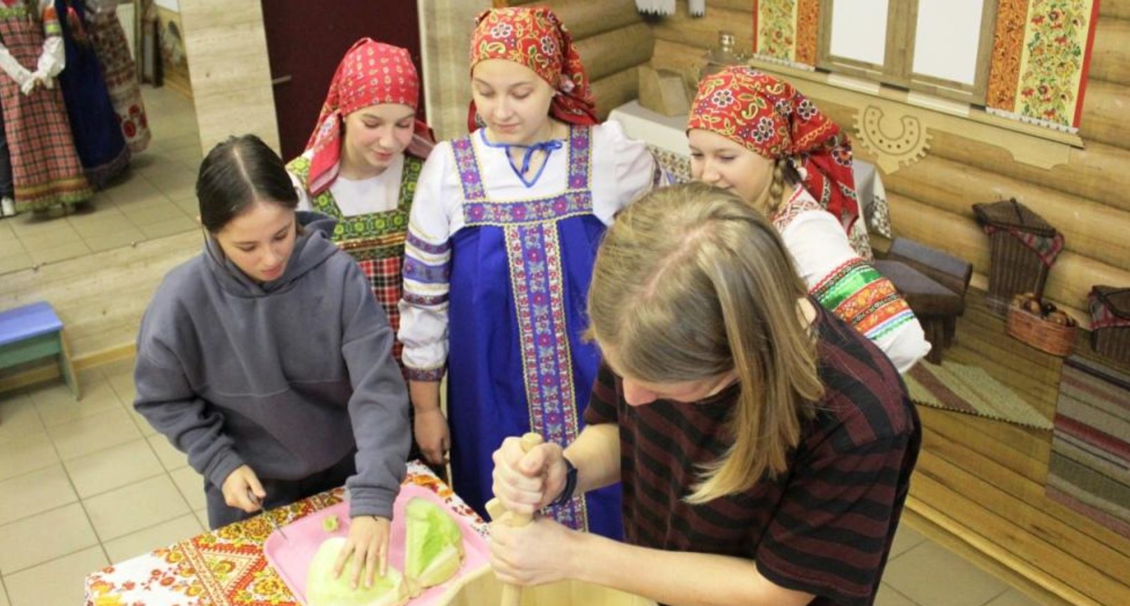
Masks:
[[[200,137],[192,102],[165,87],[142,86],[141,95],[153,131],[148,149],[81,211],[0,220],[0,274],[197,227]]]

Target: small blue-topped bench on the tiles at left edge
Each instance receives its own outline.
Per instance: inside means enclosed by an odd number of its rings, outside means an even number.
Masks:
[[[59,362],[59,374],[75,399],[82,397],[63,337],[63,323],[51,305],[41,301],[0,311],[0,369],[49,355]]]

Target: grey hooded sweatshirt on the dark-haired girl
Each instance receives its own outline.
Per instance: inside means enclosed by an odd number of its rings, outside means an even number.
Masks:
[[[258,283],[218,245],[173,269],[138,334],[133,407],[216,486],[240,465],[298,480],[357,448],[350,516],[392,518],[408,392],[393,333],[357,263],[298,212],[282,275]]]

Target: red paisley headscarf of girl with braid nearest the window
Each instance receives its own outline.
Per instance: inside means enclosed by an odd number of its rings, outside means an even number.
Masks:
[[[794,158],[805,190],[845,231],[859,217],[847,135],[789,82],[740,65],[712,73],[698,84],[690,129],[766,158]]]

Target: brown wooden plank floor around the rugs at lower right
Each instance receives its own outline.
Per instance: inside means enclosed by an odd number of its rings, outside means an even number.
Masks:
[[[970,291],[946,358],[984,368],[1052,419],[1061,360],[1008,336],[983,300]],[[1089,349],[1081,339],[1077,348]],[[1050,431],[919,411],[912,526],[1049,604],[1130,604],[1130,539],[1044,495]]]

